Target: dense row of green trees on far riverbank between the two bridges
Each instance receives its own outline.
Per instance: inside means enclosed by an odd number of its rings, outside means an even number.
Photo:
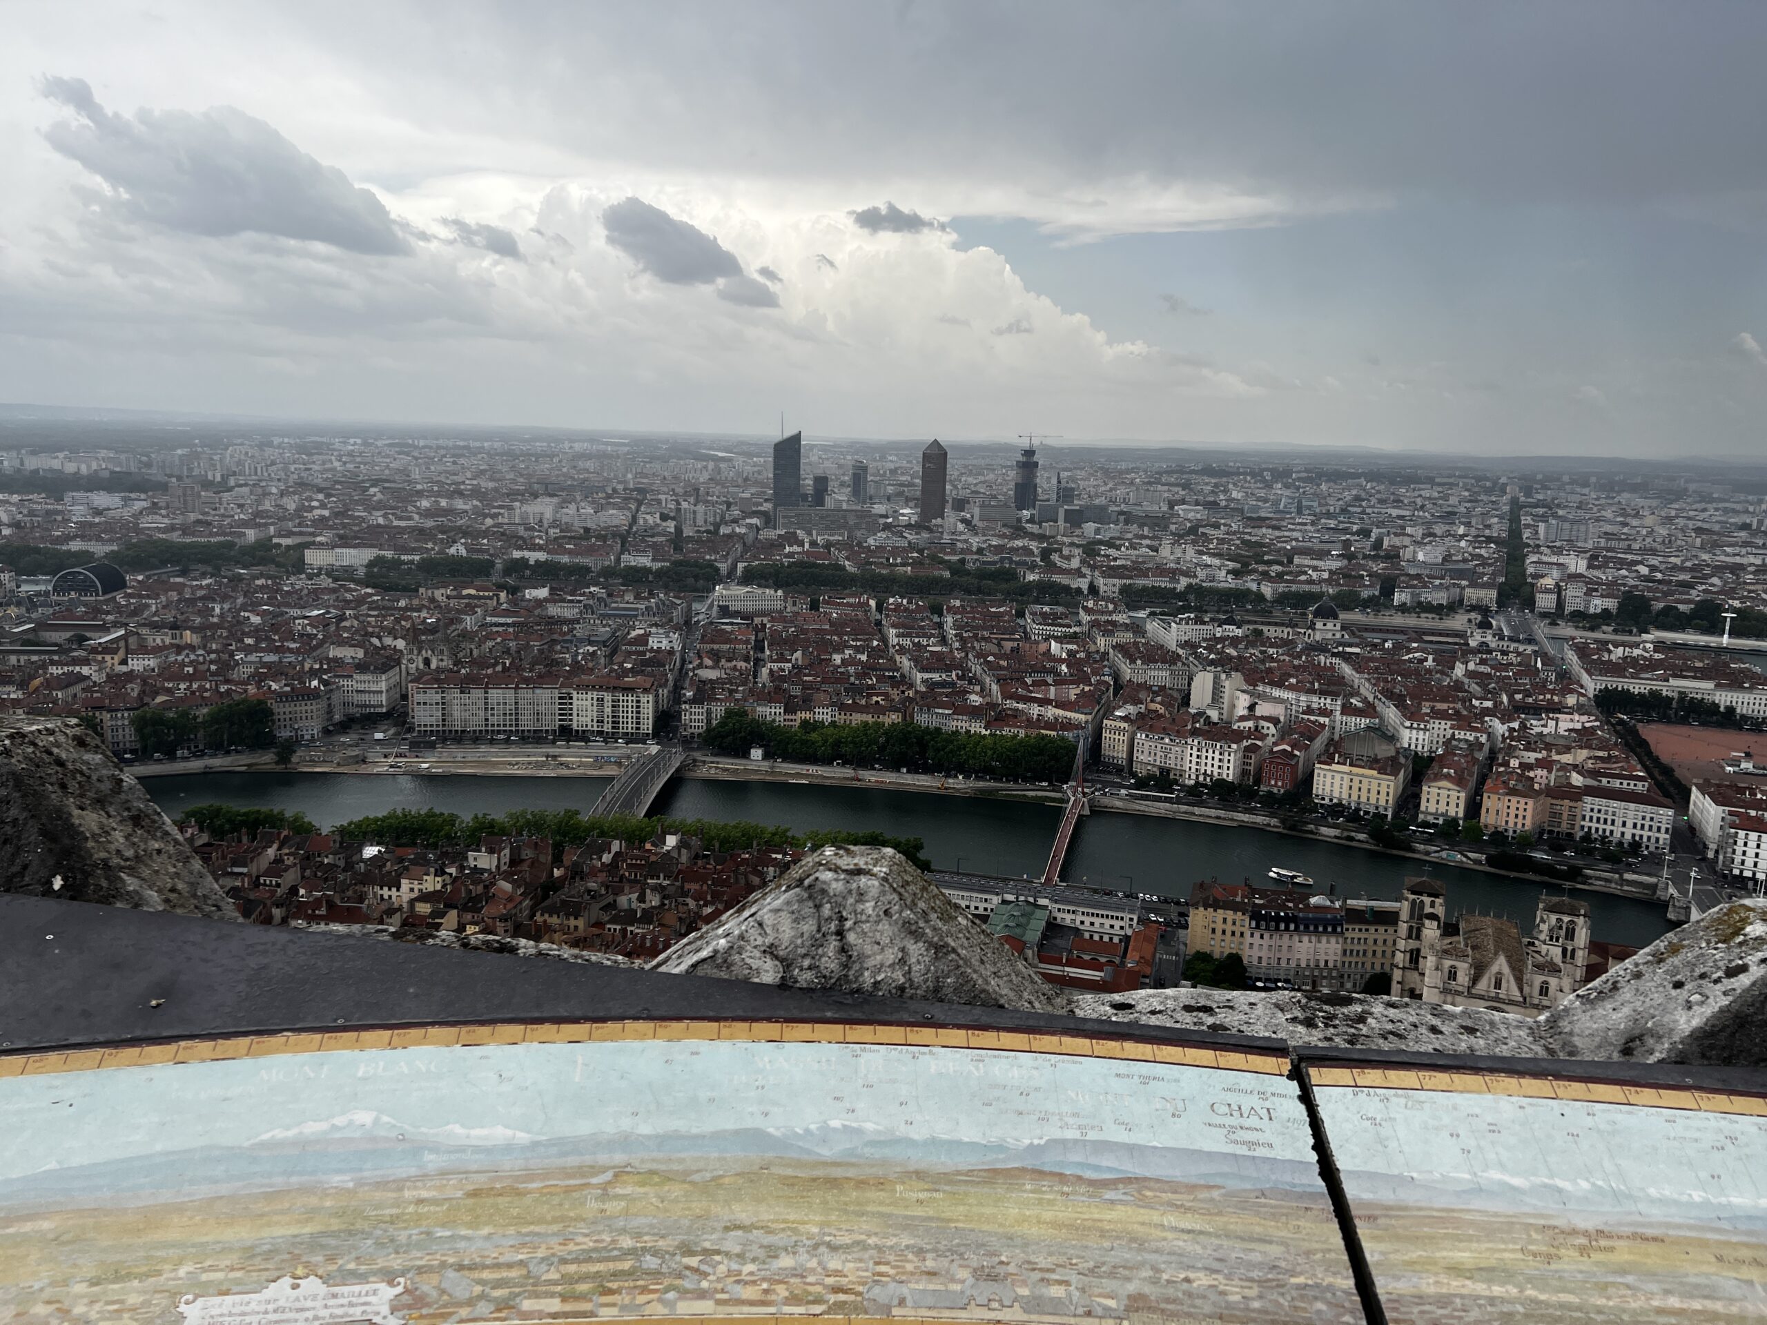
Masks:
[[[1066,783],[1074,768],[1074,742],[1064,737],[935,731],[915,723],[804,723],[792,728],[763,723],[744,708],[724,714],[705,733],[705,744],[721,754],[747,754],[760,746],[777,760],[1000,783]]]

